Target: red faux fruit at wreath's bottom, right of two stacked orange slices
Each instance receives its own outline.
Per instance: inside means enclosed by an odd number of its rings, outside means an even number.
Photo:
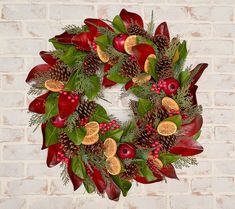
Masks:
[[[136,155],[135,147],[128,143],[121,144],[118,147],[117,155],[121,159],[133,159]]]

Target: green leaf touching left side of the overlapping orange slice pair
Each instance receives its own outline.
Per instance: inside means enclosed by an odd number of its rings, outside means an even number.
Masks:
[[[64,131],[68,135],[69,139],[76,145],[80,145],[86,135],[86,129],[83,127],[75,128],[72,132],[65,128]]]

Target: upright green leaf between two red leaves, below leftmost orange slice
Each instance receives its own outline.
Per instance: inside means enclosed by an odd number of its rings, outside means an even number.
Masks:
[[[58,114],[58,93],[52,93],[47,97],[45,110],[47,118],[51,118]]]

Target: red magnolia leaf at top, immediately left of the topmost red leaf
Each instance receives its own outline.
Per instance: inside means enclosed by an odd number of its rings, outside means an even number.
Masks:
[[[90,31],[92,32],[94,36],[101,35],[101,33],[99,32],[96,26],[107,28],[110,31],[113,31],[113,29],[106,22],[100,19],[87,18],[84,20],[84,23],[88,26],[88,28],[90,29]]]

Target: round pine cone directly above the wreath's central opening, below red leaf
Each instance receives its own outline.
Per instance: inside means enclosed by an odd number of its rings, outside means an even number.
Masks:
[[[128,59],[122,64],[120,74],[126,78],[133,78],[140,73],[141,69],[136,60]]]

